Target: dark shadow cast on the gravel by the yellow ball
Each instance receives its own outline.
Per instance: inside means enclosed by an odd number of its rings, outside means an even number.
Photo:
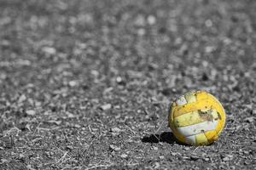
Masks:
[[[143,143],[150,143],[150,144],[154,144],[154,143],[160,143],[160,142],[166,142],[168,144],[182,144],[185,145],[183,143],[181,143],[180,141],[178,141],[175,136],[173,135],[172,132],[163,132],[160,134],[150,134],[149,136],[144,136],[142,139]]]

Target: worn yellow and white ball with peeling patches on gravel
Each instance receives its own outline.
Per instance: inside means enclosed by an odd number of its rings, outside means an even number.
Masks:
[[[224,108],[218,99],[205,91],[193,91],[172,103],[169,126],[181,142],[207,145],[218,139],[225,118]]]

